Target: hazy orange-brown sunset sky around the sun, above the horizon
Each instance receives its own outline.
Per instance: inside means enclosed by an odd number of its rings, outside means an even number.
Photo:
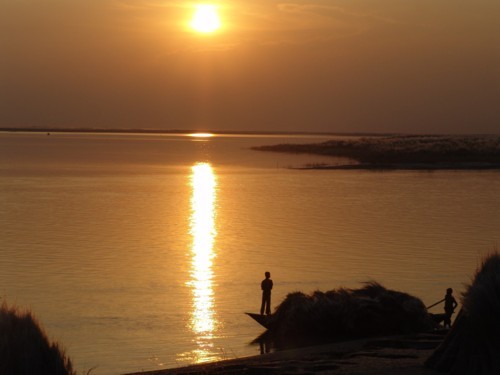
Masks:
[[[499,0],[0,0],[0,127],[499,133]]]

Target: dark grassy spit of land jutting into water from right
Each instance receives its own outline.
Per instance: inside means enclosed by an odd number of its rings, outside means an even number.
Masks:
[[[356,165],[309,168],[500,168],[500,136],[387,136],[312,144],[258,146],[258,151],[346,157]]]

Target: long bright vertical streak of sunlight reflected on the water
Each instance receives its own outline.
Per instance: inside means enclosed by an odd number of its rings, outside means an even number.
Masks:
[[[209,163],[191,168],[191,273],[187,285],[192,292],[189,328],[197,349],[182,354],[186,361],[205,362],[214,358],[213,339],[217,320],[214,313],[212,262],[215,256],[217,181]]]

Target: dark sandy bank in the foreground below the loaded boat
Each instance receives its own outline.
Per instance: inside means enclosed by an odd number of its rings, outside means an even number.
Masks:
[[[443,337],[437,332],[370,338],[128,375],[436,375],[438,372],[426,368],[424,362]]]

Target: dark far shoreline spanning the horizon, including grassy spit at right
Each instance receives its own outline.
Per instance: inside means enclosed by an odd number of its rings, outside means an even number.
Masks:
[[[0,133],[248,135],[356,137],[320,143],[276,144],[251,147],[256,151],[342,157],[347,164],[315,163],[292,166],[296,170],[500,170],[500,135],[403,135],[383,133],[328,133],[285,131],[229,131],[181,129],[103,129],[55,127],[3,127]]]

